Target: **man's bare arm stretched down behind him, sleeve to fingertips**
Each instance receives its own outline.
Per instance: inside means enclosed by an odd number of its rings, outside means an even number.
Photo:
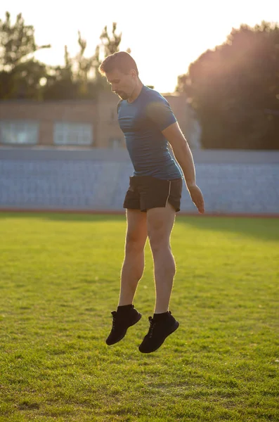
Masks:
[[[167,141],[169,141],[171,148],[174,151],[174,156],[181,166],[186,186],[193,203],[195,203],[199,212],[203,214],[205,212],[205,203],[202,197],[202,191],[200,191],[200,188],[195,182],[195,165],[193,155],[190,151],[190,147],[188,146],[188,142],[181,132],[179,124],[177,122],[170,124],[166,129],[162,130],[162,134]]]

